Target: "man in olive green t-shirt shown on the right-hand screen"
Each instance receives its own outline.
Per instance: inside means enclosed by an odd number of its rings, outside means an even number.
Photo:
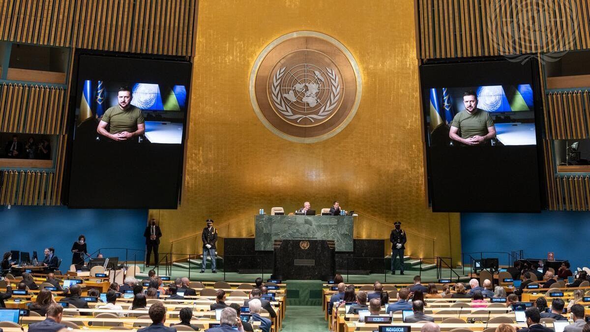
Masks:
[[[477,108],[477,95],[467,91],[463,95],[465,110],[457,113],[448,136],[465,145],[480,145],[496,137],[496,126],[490,113]],[[461,136],[457,133],[461,131]]]

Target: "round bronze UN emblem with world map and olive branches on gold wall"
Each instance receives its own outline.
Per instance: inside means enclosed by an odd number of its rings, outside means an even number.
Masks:
[[[274,134],[294,142],[319,142],[338,134],[355,116],[361,92],[352,54],[319,32],[293,32],[274,40],[250,75],[256,115]]]

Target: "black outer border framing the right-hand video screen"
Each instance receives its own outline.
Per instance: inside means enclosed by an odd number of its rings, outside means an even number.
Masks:
[[[504,70],[497,70],[504,67]],[[458,71],[457,69],[462,70]],[[526,79],[527,82],[524,82]],[[443,59],[437,61],[422,61],[419,66],[419,86],[421,96],[422,116],[422,144],[425,154],[426,184],[428,204],[433,212],[473,212],[473,213],[539,213],[546,207],[546,185],[545,185],[545,160],[543,158],[543,100],[542,86],[540,82],[539,63],[535,57],[527,58],[525,62],[515,63],[506,58],[470,58],[470,59]],[[430,96],[428,89],[431,87],[468,87],[482,85],[506,85],[530,83],[533,89],[533,103],[535,114],[536,134],[536,183],[535,190],[539,200],[527,206],[512,206],[510,208],[500,207],[501,201],[496,203],[497,207],[477,206],[474,209],[462,207],[438,206],[433,201],[432,190],[432,151],[428,144],[428,119]],[[518,146],[516,146],[518,148]],[[536,203],[536,204],[535,204]]]

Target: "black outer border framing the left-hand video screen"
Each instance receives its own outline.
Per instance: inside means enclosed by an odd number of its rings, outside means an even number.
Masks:
[[[161,73],[156,79],[156,74],[153,74],[149,70],[134,70],[141,66],[136,63],[136,66],[127,67],[125,71],[118,71],[117,74],[107,73],[103,70],[103,67],[96,66],[93,68],[81,69],[81,62],[84,62],[84,58],[96,59],[97,63],[102,63],[104,66],[110,65],[111,61],[161,61],[160,63],[168,66],[178,66],[178,70],[171,70],[169,73]],[[145,63],[145,62],[144,62]],[[110,51],[95,51],[87,49],[77,49],[73,54],[72,61],[72,76],[70,90],[68,94],[68,109],[67,109],[67,142],[65,149],[65,161],[64,161],[64,175],[61,188],[61,203],[68,206],[69,209],[177,209],[178,204],[181,201],[182,187],[183,187],[183,171],[184,162],[186,156],[186,137],[188,135],[188,123],[190,115],[190,97],[191,97],[191,83],[192,83],[192,62],[189,61],[188,57],[174,57],[174,56],[158,56],[152,54],[132,54],[132,53],[118,53]],[[176,199],[175,203],[170,204],[135,204],[128,206],[112,206],[112,205],[94,205],[91,204],[70,204],[70,183],[71,183],[71,170],[73,162],[73,149],[74,149],[74,129],[76,126],[76,107],[78,97],[81,94],[83,88],[83,80],[85,79],[100,79],[104,81],[115,81],[124,82],[122,77],[132,77],[135,82],[154,82],[154,83],[168,83],[168,84],[182,84],[186,87],[186,110],[185,116],[183,117],[182,125],[182,140],[179,144],[179,161],[176,168]]]

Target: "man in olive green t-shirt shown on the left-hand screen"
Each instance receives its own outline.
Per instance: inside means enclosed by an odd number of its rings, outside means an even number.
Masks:
[[[143,135],[146,130],[142,110],[131,105],[133,95],[129,87],[122,86],[117,94],[119,105],[104,112],[96,131],[114,141],[127,141]],[[107,131],[107,126],[109,130]]]

